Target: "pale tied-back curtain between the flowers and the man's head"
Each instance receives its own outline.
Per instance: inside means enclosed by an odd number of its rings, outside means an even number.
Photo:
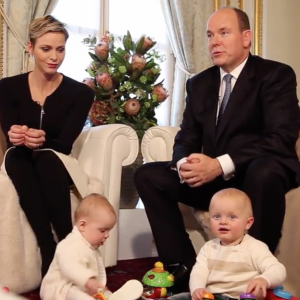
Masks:
[[[211,66],[206,22],[214,7],[208,0],[161,0],[161,4],[176,59],[170,125],[179,126],[187,79]]]

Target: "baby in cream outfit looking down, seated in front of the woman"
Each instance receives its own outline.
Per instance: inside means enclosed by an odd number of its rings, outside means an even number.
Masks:
[[[42,300],[92,300],[99,291],[109,300],[134,300],[142,295],[143,286],[137,280],[129,280],[115,293],[106,288],[99,247],[115,224],[114,208],[103,196],[91,194],[80,202],[73,231],[57,245],[42,281]]]

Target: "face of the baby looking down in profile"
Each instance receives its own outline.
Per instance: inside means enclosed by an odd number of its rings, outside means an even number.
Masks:
[[[113,214],[94,214],[86,219],[81,234],[92,247],[97,249],[108,239],[109,232],[115,223],[116,218]]]

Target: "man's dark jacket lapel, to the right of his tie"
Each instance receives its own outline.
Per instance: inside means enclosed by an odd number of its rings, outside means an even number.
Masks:
[[[220,138],[222,132],[228,126],[229,122],[234,121],[234,115],[242,112],[241,106],[251,93],[250,80],[254,77],[254,66],[251,58],[252,57],[250,55],[230,94],[230,98],[223,113],[221,123],[217,127],[216,142]]]

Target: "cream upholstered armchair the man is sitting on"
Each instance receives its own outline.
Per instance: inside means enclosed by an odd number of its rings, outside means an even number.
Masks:
[[[146,162],[168,161],[172,157],[174,137],[178,127],[156,126],[148,129],[141,144],[141,150]],[[296,147],[300,146],[300,140]],[[297,149],[298,150],[298,149]],[[298,151],[297,151],[298,152]],[[180,205],[187,232],[190,235],[196,252],[205,240],[212,238],[209,229],[207,212],[192,211],[185,205]],[[287,269],[286,290],[300,298],[300,188],[286,194],[286,214],[282,228],[282,238],[276,250],[276,257]],[[270,207],[270,214],[272,208]],[[198,223],[196,222],[198,221]],[[200,226],[201,224],[202,226]]]

